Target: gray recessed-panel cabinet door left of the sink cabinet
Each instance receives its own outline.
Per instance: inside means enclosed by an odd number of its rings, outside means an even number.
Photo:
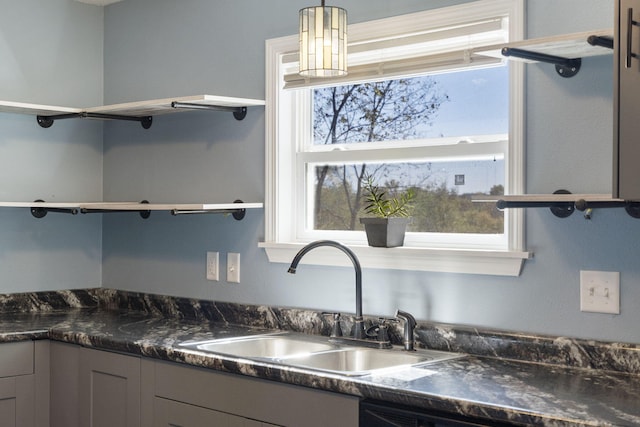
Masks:
[[[140,358],[83,348],[80,425],[140,426]]]

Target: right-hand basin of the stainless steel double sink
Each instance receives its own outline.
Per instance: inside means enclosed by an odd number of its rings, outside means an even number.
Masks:
[[[342,375],[367,375],[383,369],[433,363],[461,356],[459,353],[435,350],[408,353],[400,350],[343,348],[331,352],[287,357],[282,363]]]

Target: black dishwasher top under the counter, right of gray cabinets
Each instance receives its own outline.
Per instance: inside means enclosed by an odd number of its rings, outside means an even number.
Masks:
[[[360,427],[464,427],[507,426],[493,421],[479,421],[453,414],[427,413],[419,409],[391,406],[388,403],[360,402]]]

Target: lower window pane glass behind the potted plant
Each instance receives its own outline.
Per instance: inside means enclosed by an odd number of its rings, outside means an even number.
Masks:
[[[499,156],[499,157],[498,157]],[[504,158],[437,162],[315,165],[313,228],[362,230],[367,216],[362,198],[366,174],[377,179],[389,197],[410,189],[412,222],[407,231],[502,234],[504,214],[491,203],[474,203],[473,195],[504,194]]]

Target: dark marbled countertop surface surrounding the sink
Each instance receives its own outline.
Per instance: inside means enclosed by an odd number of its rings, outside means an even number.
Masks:
[[[256,327],[217,319],[174,317],[131,306],[0,312],[0,342],[52,339],[518,425],[640,425],[636,373],[468,356],[384,375],[345,377],[179,346],[185,340],[248,334]]]

